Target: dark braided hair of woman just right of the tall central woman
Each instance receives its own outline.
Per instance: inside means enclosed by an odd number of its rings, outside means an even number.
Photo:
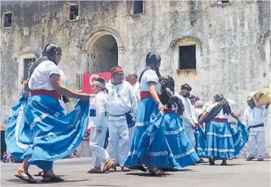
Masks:
[[[183,102],[179,97],[174,95],[174,79],[169,75],[161,78],[161,95],[159,99],[163,105],[167,105],[168,108],[171,108],[172,105],[177,106],[178,115],[183,115],[184,106]]]

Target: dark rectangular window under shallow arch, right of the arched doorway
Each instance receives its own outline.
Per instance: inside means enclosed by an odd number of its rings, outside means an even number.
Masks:
[[[179,68],[196,69],[196,46],[179,46]]]

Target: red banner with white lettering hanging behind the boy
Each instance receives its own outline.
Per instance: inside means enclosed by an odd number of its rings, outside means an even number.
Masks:
[[[83,74],[83,83],[82,83],[82,92],[92,94],[92,81],[95,78],[103,78],[106,82],[111,79],[110,72],[96,72],[96,73],[88,73]]]

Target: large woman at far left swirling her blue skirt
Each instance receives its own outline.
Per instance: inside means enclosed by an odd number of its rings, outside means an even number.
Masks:
[[[28,173],[30,164],[43,170],[44,182],[63,181],[54,175],[52,164],[72,153],[86,133],[90,96],[74,92],[63,85],[57,67],[61,48],[53,43],[43,50],[43,57],[35,61],[29,72],[30,98],[27,104],[14,109],[9,124],[15,125],[15,139],[7,132],[11,155],[23,160],[16,177],[36,183]],[[80,99],[68,115],[59,104],[59,95]],[[22,101],[22,100],[20,100]]]

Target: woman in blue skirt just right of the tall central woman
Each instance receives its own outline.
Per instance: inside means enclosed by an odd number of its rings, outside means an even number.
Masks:
[[[180,169],[199,161],[188,133],[183,128],[183,103],[174,95],[174,80],[170,76],[161,79],[162,93],[159,96],[165,105],[162,125],[165,133],[165,142],[168,146],[168,166],[165,168]]]

